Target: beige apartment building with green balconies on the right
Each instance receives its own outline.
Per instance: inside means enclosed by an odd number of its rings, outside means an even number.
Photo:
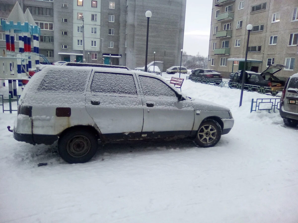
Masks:
[[[287,79],[298,72],[298,1],[212,0],[208,67],[227,77],[243,69],[247,30],[250,32],[248,70],[262,72],[283,64],[278,73]],[[240,61],[233,60],[238,58]]]

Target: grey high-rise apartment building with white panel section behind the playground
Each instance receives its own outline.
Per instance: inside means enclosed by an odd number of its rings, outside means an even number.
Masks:
[[[164,62],[165,68],[180,63],[186,0],[17,1],[24,12],[30,10],[40,26],[40,54],[50,62],[83,61],[84,29],[86,62],[145,66],[145,12],[150,10],[148,62],[153,61],[155,51],[156,61]],[[0,18],[8,17],[15,2],[0,0],[5,5],[0,7]],[[0,48],[4,49],[2,35]]]

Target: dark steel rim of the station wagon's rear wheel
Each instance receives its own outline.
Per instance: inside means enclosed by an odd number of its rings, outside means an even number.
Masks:
[[[83,135],[73,136],[68,140],[66,150],[70,156],[80,158],[89,153],[91,149],[91,143],[88,137]]]

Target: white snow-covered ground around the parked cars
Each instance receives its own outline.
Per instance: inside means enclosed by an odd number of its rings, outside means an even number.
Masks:
[[[244,92],[239,108],[237,89],[185,80],[182,91],[231,108],[235,125],[215,147],[115,143],[66,164],[57,145],[15,141],[16,114],[0,113],[0,222],[297,223],[298,128],[250,113],[252,98],[271,96]]]

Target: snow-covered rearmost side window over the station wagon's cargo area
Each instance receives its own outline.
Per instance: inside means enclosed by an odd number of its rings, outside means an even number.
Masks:
[[[47,70],[38,91],[83,92],[88,84],[90,70]]]

